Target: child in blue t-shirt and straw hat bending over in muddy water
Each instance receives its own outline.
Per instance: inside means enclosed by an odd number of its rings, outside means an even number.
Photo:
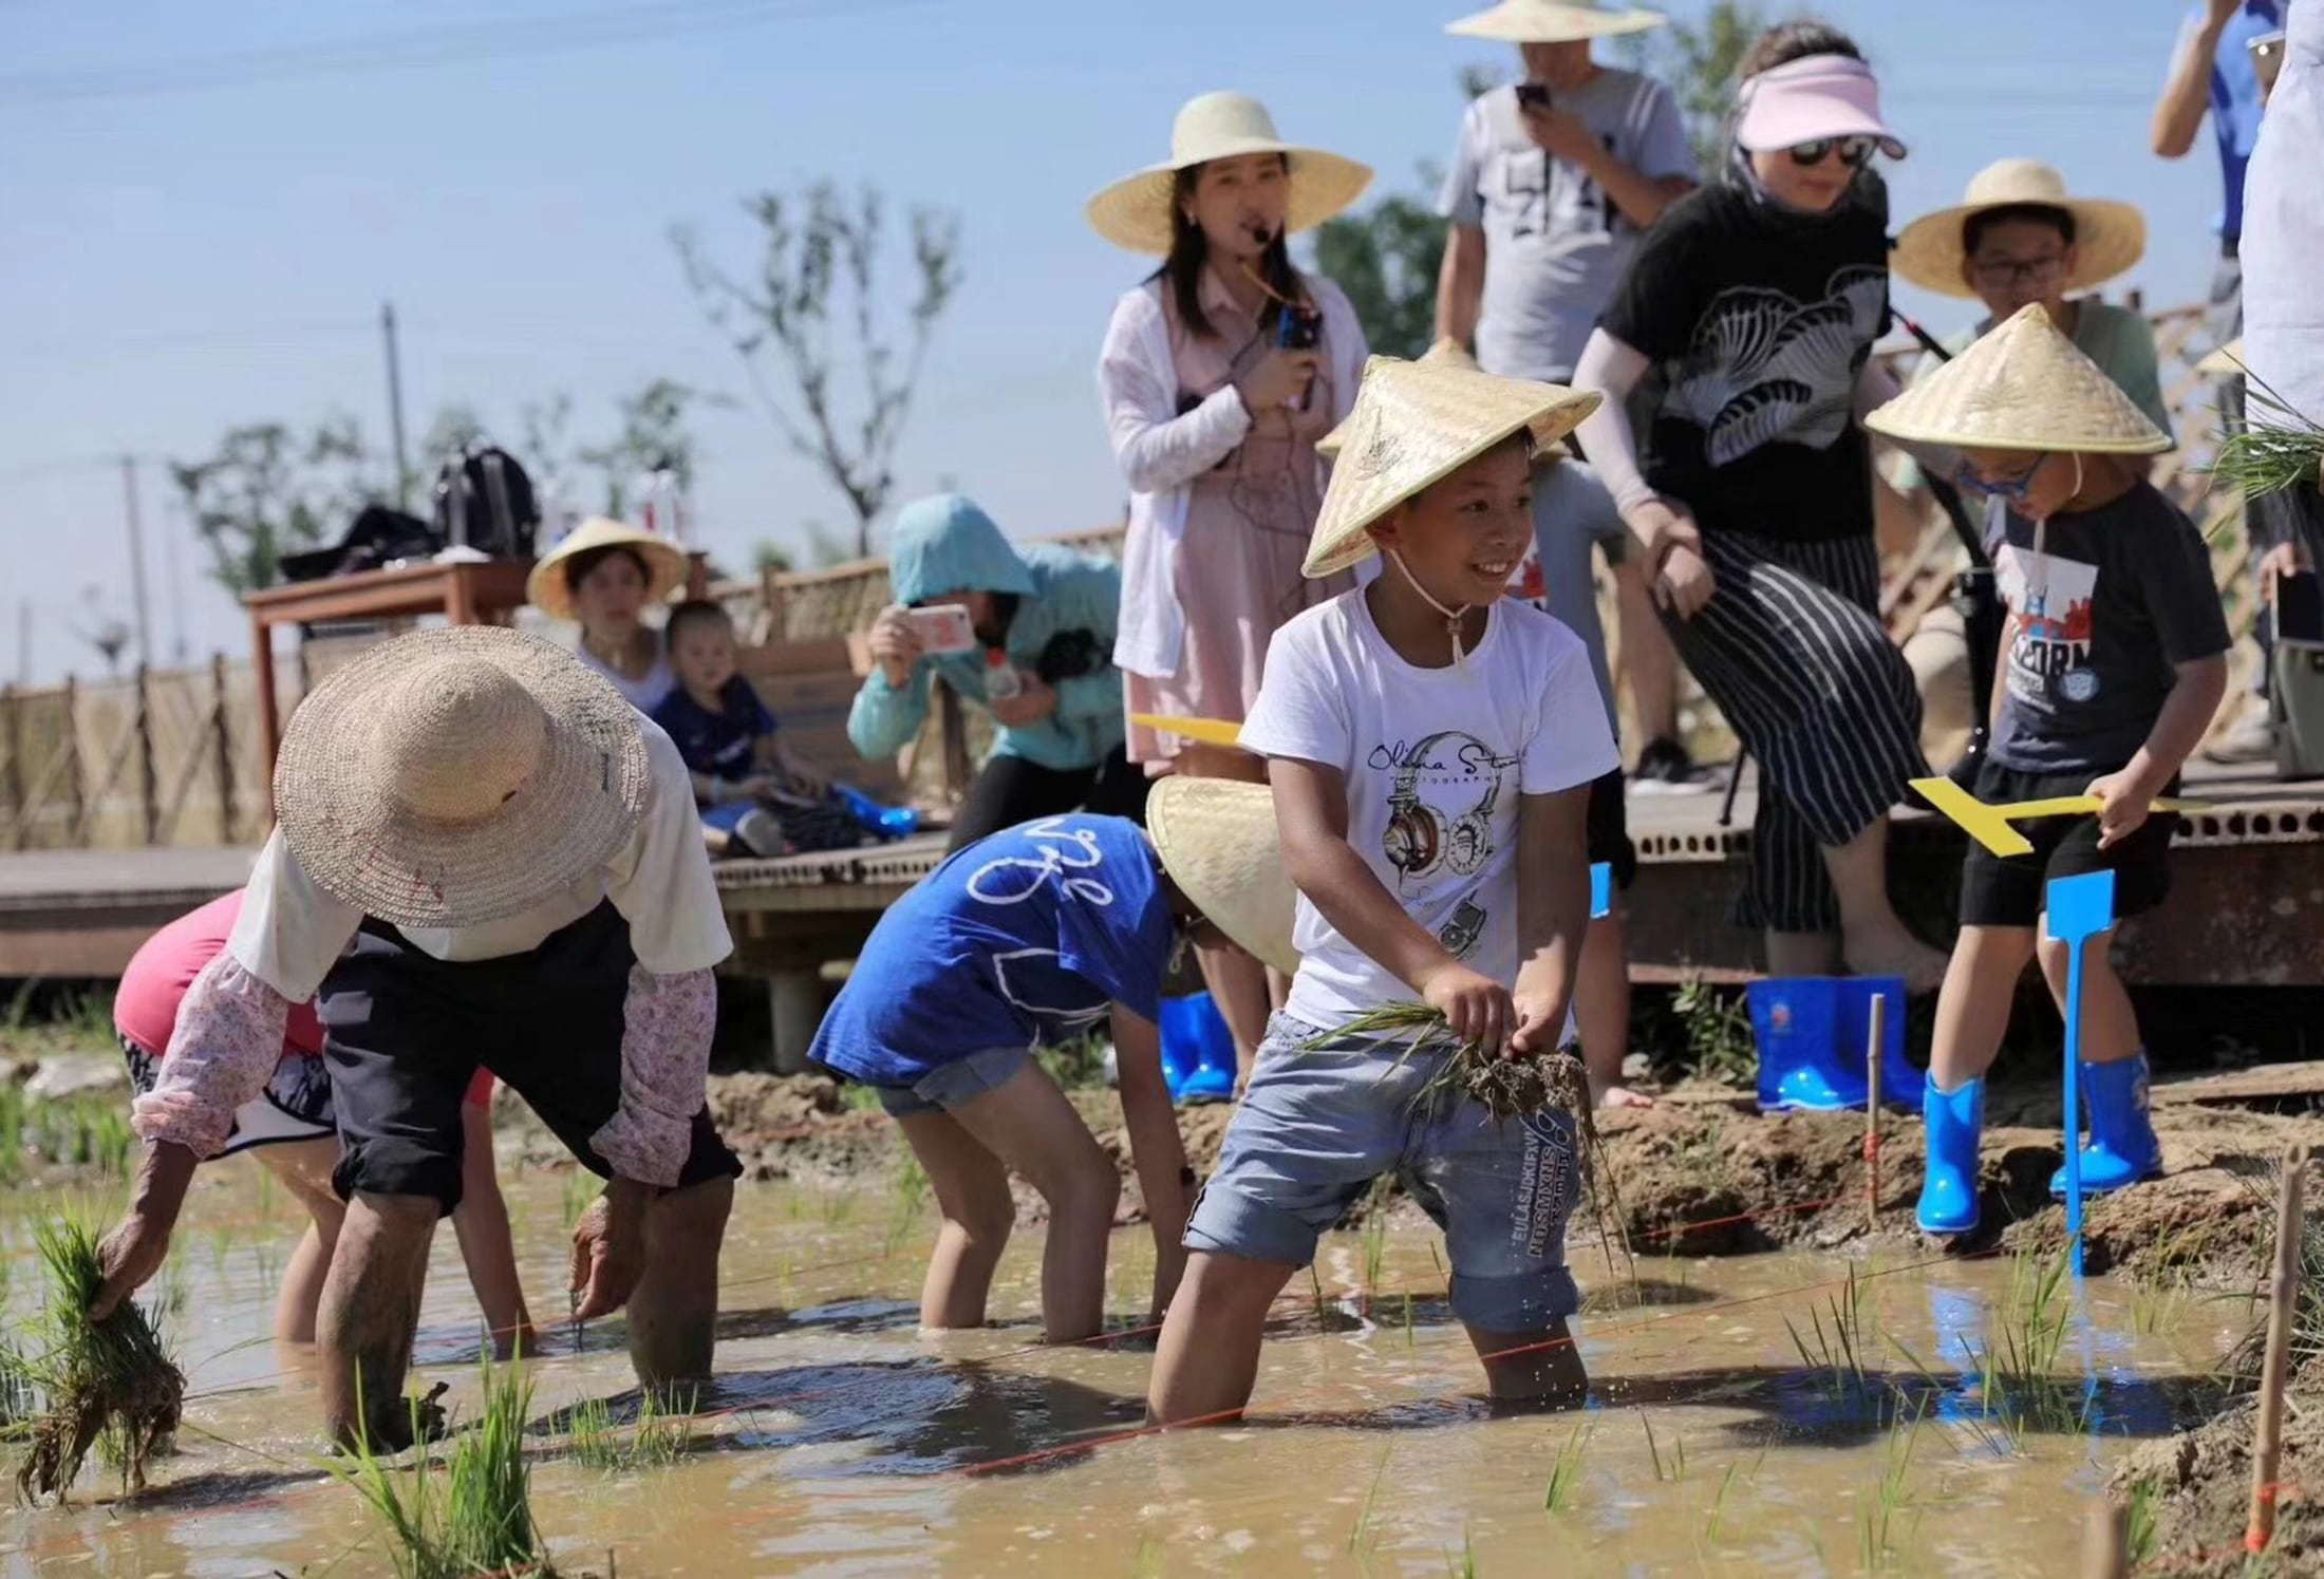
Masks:
[[[1034,1050],[1109,1019],[1155,1233],[1153,1307],[1178,1284],[1195,1175],[1162,1080],[1162,982],[1181,933],[1222,940],[1206,913],[1287,966],[1290,882],[1260,785],[1169,778],[1148,817],[1150,838],[1127,817],[1067,813],[955,852],[871,929],[816,1033],[809,1061],[874,1087],[934,1187],[930,1331],[983,1324],[1016,1221],[1011,1173],[1048,1203],[1046,1338],[1099,1331],[1120,1177]]]

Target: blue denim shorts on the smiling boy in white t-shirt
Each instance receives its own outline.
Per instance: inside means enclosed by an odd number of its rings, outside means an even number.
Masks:
[[[1306,1266],[1315,1240],[1383,1173],[1446,1233],[1452,1314],[1487,1333],[1538,1333],[1580,1307],[1566,1219],[1580,1147],[1562,1112],[1494,1119],[1466,1096],[1418,1103],[1441,1054],[1276,1015],[1185,1247]],[[1401,1059],[1401,1061],[1399,1061]]]

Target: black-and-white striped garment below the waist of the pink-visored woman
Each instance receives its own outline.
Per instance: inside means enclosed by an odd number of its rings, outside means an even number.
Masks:
[[[1822,848],[1868,829],[1929,771],[1913,669],[1880,625],[1880,553],[1871,536],[1703,532],[1703,555],[1717,592],[1692,620],[1664,625],[1759,762],[1738,920],[1838,931]]]

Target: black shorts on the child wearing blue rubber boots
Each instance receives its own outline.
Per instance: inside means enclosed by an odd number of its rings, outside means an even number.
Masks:
[[[1978,771],[1978,799],[1987,806],[2006,801],[2047,801],[2059,794],[2082,794],[2089,773],[2022,773],[1999,762]],[[2164,794],[2178,794],[2178,780]],[[2096,817],[2038,817],[2013,822],[2031,841],[2031,855],[1999,857],[1968,841],[1961,866],[1961,927],[2036,927],[2047,903],[2052,878],[2075,878],[2085,871],[2115,873],[2115,915],[2131,917],[2152,910],[2171,892],[2171,831],[2178,817],[2152,813],[2145,824],[2113,850],[2099,850]]]

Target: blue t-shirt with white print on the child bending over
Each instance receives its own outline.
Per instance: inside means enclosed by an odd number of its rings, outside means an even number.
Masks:
[[[806,1059],[909,1087],[995,1047],[1053,1047],[1122,1003],[1162,1012],[1171,913],[1127,817],[981,838],[888,906]]]

